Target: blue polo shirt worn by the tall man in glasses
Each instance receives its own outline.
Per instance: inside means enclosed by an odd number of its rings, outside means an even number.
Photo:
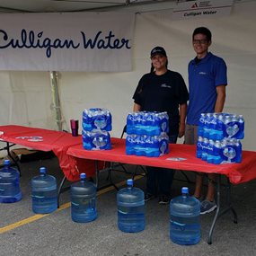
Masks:
[[[190,102],[187,111],[187,124],[199,125],[201,113],[213,113],[216,104],[216,86],[226,85],[226,65],[221,57],[208,52],[196,63],[189,64]]]

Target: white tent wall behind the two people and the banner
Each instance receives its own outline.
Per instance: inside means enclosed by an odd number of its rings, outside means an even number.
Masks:
[[[228,66],[225,111],[243,114],[246,122],[243,149],[255,150],[255,9],[255,2],[241,2],[234,5],[230,16],[176,21],[172,20],[172,10],[138,13],[133,44],[133,71],[59,74],[63,128],[70,130],[69,119],[79,119],[81,124],[84,108],[102,107],[109,109],[112,114],[111,136],[119,137],[126,116],[132,110],[132,95],[137,82],[149,72],[150,50],[156,45],[163,46],[169,57],[169,67],[180,72],[187,83],[187,66],[195,56],[191,33],[198,26],[207,26],[213,33],[210,50],[223,57]],[[57,128],[51,112],[49,73],[1,72],[0,83],[1,125]],[[182,141],[179,140],[180,143]]]

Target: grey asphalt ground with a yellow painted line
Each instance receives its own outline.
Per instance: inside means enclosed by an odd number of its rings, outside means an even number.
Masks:
[[[21,163],[22,200],[0,204],[0,255],[256,255],[256,180],[233,186],[234,208],[238,224],[230,212],[216,222],[213,243],[207,244],[207,233],[214,214],[201,216],[202,239],[196,245],[181,246],[169,238],[169,206],[160,206],[157,199],[146,202],[146,229],[137,234],[126,234],[117,227],[116,193],[113,188],[101,190],[97,199],[98,218],[87,224],[71,220],[69,192],[61,195],[60,208],[49,215],[35,215],[31,211],[30,181],[38,175],[40,166],[46,166],[56,176],[58,184],[62,172],[57,158]],[[128,166],[133,171],[134,166]],[[255,170],[256,172],[256,170]],[[193,173],[189,173],[193,179]],[[102,172],[101,181],[106,181]],[[114,172],[115,182],[130,176]],[[138,177],[135,185],[145,189],[146,178]],[[175,178],[181,179],[181,172]],[[180,194],[182,186],[193,184],[175,180],[172,196]],[[225,192],[225,189],[222,189]]]

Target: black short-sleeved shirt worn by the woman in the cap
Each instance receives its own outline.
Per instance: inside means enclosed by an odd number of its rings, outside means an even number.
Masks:
[[[143,75],[133,99],[142,111],[166,111],[170,135],[179,133],[179,105],[189,100],[188,89],[181,74],[167,70],[163,75]]]

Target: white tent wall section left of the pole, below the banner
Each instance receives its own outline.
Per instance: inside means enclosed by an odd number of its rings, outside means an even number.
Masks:
[[[49,74],[0,72],[0,124],[54,128]]]

